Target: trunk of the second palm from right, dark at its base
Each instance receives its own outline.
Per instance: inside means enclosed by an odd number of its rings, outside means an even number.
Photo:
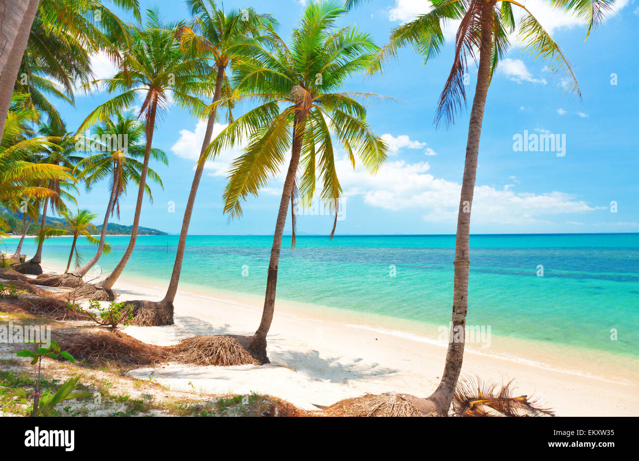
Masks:
[[[266,294],[264,299],[264,308],[262,310],[262,319],[259,322],[259,328],[254,333],[248,347],[251,354],[262,363],[268,363],[266,356],[266,335],[273,321],[273,310],[275,310],[275,289],[277,288],[277,266],[279,264],[279,255],[282,248],[282,234],[284,234],[284,225],[286,225],[286,215],[288,213],[288,204],[291,201],[291,193],[293,193],[293,184],[295,183],[295,175],[297,167],[300,163],[300,152],[302,151],[302,140],[304,138],[305,117],[296,115],[293,122],[293,146],[291,148],[291,163],[288,165],[286,179],[284,179],[284,187],[282,188],[282,200],[280,201],[279,212],[277,213],[277,221],[275,222],[275,234],[273,234],[273,246],[271,248],[271,258],[268,262],[268,276],[266,278]]]

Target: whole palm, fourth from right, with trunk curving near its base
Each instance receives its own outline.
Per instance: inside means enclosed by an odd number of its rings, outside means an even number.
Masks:
[[[133,44],[123,51],[119,72],[112,79],[104,79],[110,92],[122,91],[122,93],[93,110],[78,130],[81,132],[96,121],[108,119],[112,114],[121,112],[123,108],[135,102],[138,92],[144,94],[144,102],[138,117],[144,117],[146,123],[146,149],[131,239],[114,270],[118,275],[135,248],[157,116],[166,109],[169,96],[179,107],[189,109],[196,116],[201,116],[206,105],[193,95],[210,93],[209,85],[206,83],[210,70],[207,69],[204,59],[190,58],[182,52],[180,43],[176,39],[180,28],[181,24],[162,24],[157,11],[148,10],[145,28],[143,30],[140,27],[130,28]],[[99,80],[95,80],[92,84],[98,82]]]

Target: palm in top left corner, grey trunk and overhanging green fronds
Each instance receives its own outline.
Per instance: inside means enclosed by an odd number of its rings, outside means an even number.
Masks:
[[[139,19],[138,0],[115,3]],[[59,124],[58,111],[44,94],[72,102],[73,80],[86,81],[91,71],[89,55],[104,50],[118,57],[114,43],[127,42],[126,27],[99,0],[3,0],[2,5],[0,49],[8,52],[0,57],[0,132],[14,86],[29,93],[34,107],[49,114],[50,123]],[[19,73],[27,82],[16,79]]]

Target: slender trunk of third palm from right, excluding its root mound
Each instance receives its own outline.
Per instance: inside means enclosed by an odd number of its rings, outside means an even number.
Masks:
[[[200,151],[199,160],[202,160],[202,156],[206,151],[206,147],[208,147],[211,142],[211,137],[213,135],[213,125],[215,125],[215,113],[217,112],[215,103],[217,103],[220,98],[220,92],[222,90],[222,80],[224,80],[224,66],[219,66],[217,69],[217,78],[215,80],[215,93],[213,94],[213,110],[211,111],[211,114],[208,117],[208,123],[206,124],[206,133],[204,133],[204,141],[202,142],[202,149]],[[184,219],[182,220],[182,230],[180,231],[180,240],[178,241],[178,251],[175,255],[175,264],[173,264],[171,282],[169,283],[169,288],[166,291],[164,299],[162,299],[161,301],[162,306],[171,306],[171,308],[173,308],[173,300],[175,299],[175,294],[178,292],[178,283],[180,282],[180,272],[182,269],[182,261],[184,259],[184,248],[187,245],[187,234],[189,233],[189,224],[191,222],[191,215],[193,213],[193,205],[196,201],[197,188],[199,187],[199,181],[202,178],[203,170],[204,162],[200,161],[197,163],[196,174],[193,177],[191,192],[189,193],[189,200],[187,200],[187,208],[184,210]],[[113,274],[111,274],[109,278],[111,278],[112,276]],[[107,278],[107,280],[109,279]],[[109,288],[111,287],[112,284],[111,286],[109,286]]]

